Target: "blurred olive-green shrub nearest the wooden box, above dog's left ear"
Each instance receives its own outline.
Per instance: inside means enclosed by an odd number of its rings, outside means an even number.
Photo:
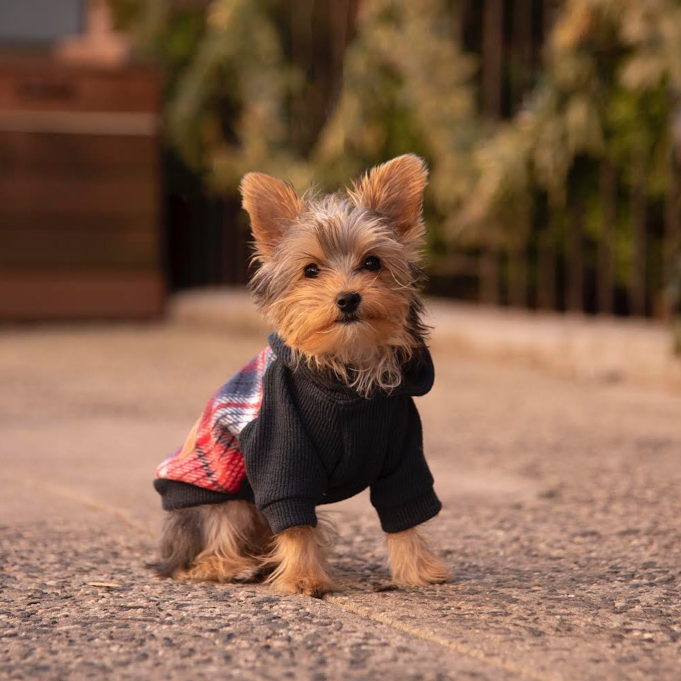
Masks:
[[[255,168],[309,183],[308,164],[288,141],[288,101],[302,79],[284,57],[276,3],[121,4],[141,49],[165,67],[167,137],[209,188],[235,192]]]

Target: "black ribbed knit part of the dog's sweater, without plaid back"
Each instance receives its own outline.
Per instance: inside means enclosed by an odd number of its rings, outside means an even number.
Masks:
[[[259,413],[238,436],[249,484],[231,496],[157,480],[164,508],[195,505],[194,500],[254,498],[272,531],[281,532],[295,525],[316,525],[316,506],[370,487],[371,502],[386,532],[407,530],[438,514],[441,504],[423,456],[420,418],[411,399],[427,393],[433,384],[425,346],[405,366],[400,388],[377,391],[367,399],[335,377],[295,366],[290,349],[276,334],[270,336],[270,345],[277,359],[265,372]]]

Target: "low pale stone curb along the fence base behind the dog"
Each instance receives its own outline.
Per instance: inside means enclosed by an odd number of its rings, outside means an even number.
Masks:
[[[485,361],[514,361],[564,376],[681,393],[673,325],[659,320],[533,312],[432,298],[432,345]],[[267,327],[243,288],[195,288],[175,295],[179,324],[225,332]]]

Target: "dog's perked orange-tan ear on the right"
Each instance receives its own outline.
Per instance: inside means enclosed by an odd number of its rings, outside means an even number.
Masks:
[[[421,208],[428,183],[425,161],[416,154],[397,156],[373,167],[356,181],[348,195],[391,220],[397,237],[409,240],[422,234]]]

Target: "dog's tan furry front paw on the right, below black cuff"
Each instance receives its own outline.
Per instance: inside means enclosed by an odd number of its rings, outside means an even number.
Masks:
[[[426,586],[446,582],[450,573],[428,547],[417,527],[386,534],[391,576],[400,586]]]

